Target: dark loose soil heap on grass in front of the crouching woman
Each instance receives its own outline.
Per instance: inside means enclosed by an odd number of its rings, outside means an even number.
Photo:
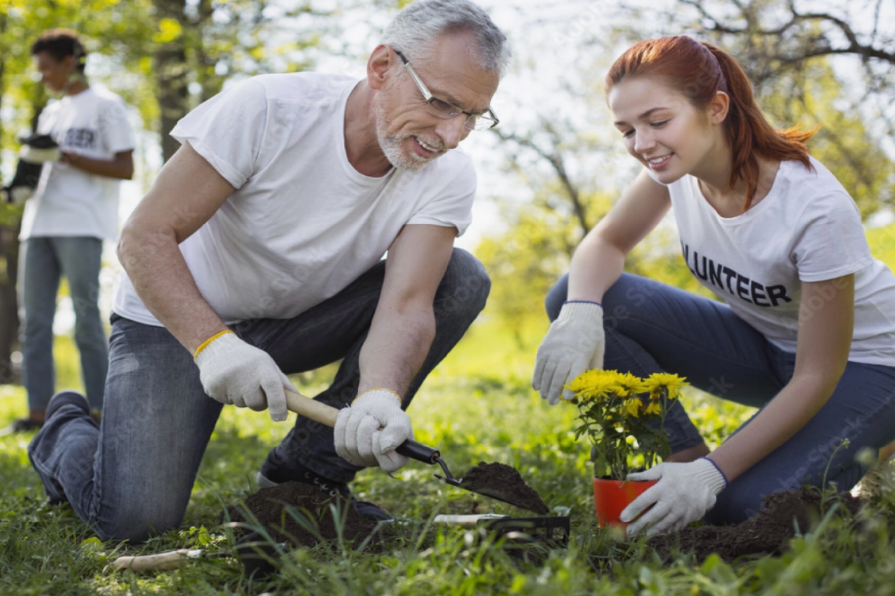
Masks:
[[[806,489],[775,492],[765,497],[764,507],[742,524],[685,528],[651,538],[647,544],[665,559],[678,552],[693,553],[699,560],[717,553],[729,562],[744,555],[779,554],[796,535],[796,527],[800,533],[809,532],[823,517],[823,506],[829,510],[837,501],[851,514],[861,507],[860,499],[848,492],[828,496],[825,503],[820,494]]]

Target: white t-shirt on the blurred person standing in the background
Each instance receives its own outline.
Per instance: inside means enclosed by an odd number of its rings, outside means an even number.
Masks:
[[[124,101],[87,88],[44,109],[38,133],[49,134],[66,153],[112,161],[133,150]],[[19,239],[47,236],[118,237],[119,181],[54,162],[44,164],[34,196],[25,204]]]

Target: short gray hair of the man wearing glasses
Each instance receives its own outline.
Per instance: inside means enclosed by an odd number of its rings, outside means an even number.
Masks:
[[[507,36],[488,13],[469,0],[417,0],[397,14],[383,34],[382,43],[394,47],[408,60],[428,60],[433,42],[446,33],[466,31],[477,41],[475,55],[486,71],[502,77],[509,67]]]

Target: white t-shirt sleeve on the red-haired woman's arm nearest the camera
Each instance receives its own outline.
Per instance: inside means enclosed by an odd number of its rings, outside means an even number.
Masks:
[[[873,263],[855,201],[845,192],[812,200],[799,218],[790,258],[800,281],[831,280]]]

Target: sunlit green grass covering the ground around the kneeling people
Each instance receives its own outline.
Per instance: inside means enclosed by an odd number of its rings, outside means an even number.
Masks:
[[[895,230],[893,228],[892,230]],[[874,254],[895,263],[895,232],[871,232]],[[359,474],[354,491],[398,516],[386,550],[346,545],[293,550],[280,574],[250,582],[227,558],[194,560],[174,571],[118,573],[121,554],[183,548],[227,550],[222,511],[255,491],[254,474],[291,423],[225,408],[183,525],[143,544],[102,543],[68,507],[48,506],[26,449],[30,436],[0,438],[0,594],[891,594],[895,592],[895,504],[874,501],[859,521],[832,519],[800,536],[780,557],[699,563],[681,553],[661,563],[643,543],[616,541],[593,519],[588,447],[575,441],[575,410],[547,407],[530,389],[533,355],[546,323],[516,335],[484,318],[430,376],[413,403],[416,438],[438,446],[455,474],[479,461],[515,466],[550,507],[567,511],[567,549],[533,546],[524,556],[475,534],[431,525],[438,513],[521,512],[439,483],[412,462],[389,477]],[[80,386],[71,340],[58,340],[60,387]],[[314,395],[329,366],[294,377]],[[750,410],[696,391],[684,399],[706,439],[717,444]],[[0,386],[0,425],[25,412],[21,387]]]

